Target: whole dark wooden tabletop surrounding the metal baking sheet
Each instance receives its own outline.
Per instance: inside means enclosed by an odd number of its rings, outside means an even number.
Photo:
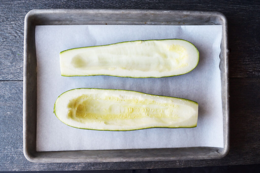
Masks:
[[[31,163],[23,155],[23,34],[31,9],[219,11],[228,19],[230,151],[222,159],[121,163]],[[0,171],[173,168],[260,163],[260,1],[0,2]]]

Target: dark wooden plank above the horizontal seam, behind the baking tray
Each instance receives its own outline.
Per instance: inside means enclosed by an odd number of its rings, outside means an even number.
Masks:
[[[23,79],[24,17],[31,9],[108,8],[219,11],[228,18],[230,77],[260,76],[260,1],[89,0],[0,3],[0,80]]]

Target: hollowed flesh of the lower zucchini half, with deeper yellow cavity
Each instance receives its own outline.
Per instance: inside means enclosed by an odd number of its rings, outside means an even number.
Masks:
[[[64,124],[81,129],[192,128],[197,126],[198,103],[136,91],[79,88],[61,94],[54,113]]]

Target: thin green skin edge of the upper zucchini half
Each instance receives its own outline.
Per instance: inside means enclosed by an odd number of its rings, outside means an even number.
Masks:
[[[95,47],[102,47],[102,46],[109,46],[109,45],[116,45],[116,44],[121,44],[121,43],[127,43],[127,42],[140,42],[140,41],[143,41],[143,42],[146,42],[146,41],[166,41],[166,40],[180,40],[180,41],[185,41],[191,45],[194,46],[194,48],[196,48],[196,46],[194,44],[192,44],[191,42],[189,41],[186,41],[184,39],[154,39],[154,40],[136,40],[136,41],[126,41],[126,42],[120,42],[120,43],[114,43],[114,44],[107,44],[107,45],[98,45],[98,46],[88,46],[88,47],[80,47],[80,48],[73,48],[73,49],[68,49],[68,50],[64,50],[62,52],[60,52],[60,55],[62,55],[63,53],[65,52],[68,52],[70,50],[77,50],[77,49],[84,49],[84,48],[95,48]],[[132,75],[122,75],[121,73],[118,73],[118,74],[115,74],[115,75],[109,75],[109,74],[90,74],[90,75],[64,75],[64,74],[61,74],[61,76],[65,76],[65,77],[72,77],[72,76],[100,76],[100,75],[105,75],[105,76],[116,76],[116,77],[129,77],[129,78],[161,78],[161,77],[172,77],[172,76],[179,76],[179,75],[184,75],[184,74],[187,74],[189,72],[191,72],[192,70],[194,70],[196,68],[196,66],[198,65],[199,63],[199,51],[198,49],[196,48],[196,54],[197,54],[197,62],[195,63],[196,65],[194,65],[193,68],[191,68],[189,71],[186,71],[184,73],[180,73],[180,74],[176,74],[176,75],[165,75],[165,76],[155,76],[155,75],[151,75],[151,76],[132,76]]]

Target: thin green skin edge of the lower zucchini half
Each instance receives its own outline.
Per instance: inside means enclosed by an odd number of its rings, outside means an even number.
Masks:
[[[144,93],[144,92],[138,92],[138,91],[132,91],[132,90],[98,89],[98,88],[76,88],[76,89],[68,90],[68,91],[66,91],[66,92],[69,92],[69,91],[72,91],[72,90],[77,90],[77,89],[130,91],[130,92],[135,92],[135,93],[140,93],[140,94],[146,94],[146,93]],[[63,95],[64,93],[66,93],[66,92],[63,92],[60,96],[62,96],[62,95]],[[170,97],[170,96],[161,96],[161,95],[152,95],[152,94],[146,94],[146,95],[159,96],[159,97],[162,97],[162,98],[163,98],[163,97],[165,97],[165,98],[177,98],[177,99],[182,99],[182,100],[185,100],[185,101],[189,101],[189,102],[192,102],[192,103],[198,105],[197,102],[192,101],[192,100],[189,100],[189,99],[185,99],[185,98]],[[59,96],[59,97],[60,97],[60,96]],[[59,97],[58,97],[58,98],[59,98]],[[57,102],[58,98],[56,99],[56,102]],[[53,113],[55,114],[55,116],[56,116],[61,122],[63,122],[63,121],[59,118],[59,116],[56,115],[56,102],[55,102],[55,104],[54,104],[54,112],[53,112]],[[63,123],[64,123],[64,122],[63,122]],[[66,123],[64,123],[64,124],[66,124]],[[133,131],[133,130],[142,130],[142,129],[150,129],[150,128],[194,128],[194,127],[197,127],[197,122],[196,122],[196,124],[191,125],[191,126],[179,126],[179,127],[167,127],[167,126],[162,127],[162,126],[158,126],[158,127],[136,128],[136,129],[130,129],[130,130],[129,130],[129,129],[128,129],[128,130],[116,130],[116,129],[115,129],[115,130],[111,130],[111,129],[79,128],[79,127],[75,127],[75,126],[69,125],[69,124],[66,124],[66,125],[68,125],[68,126],[70,126],[70,127],[74,127],[74,128],[78,128],[78,129],[86,129],[86,130],[98,130],[98,131]]]

